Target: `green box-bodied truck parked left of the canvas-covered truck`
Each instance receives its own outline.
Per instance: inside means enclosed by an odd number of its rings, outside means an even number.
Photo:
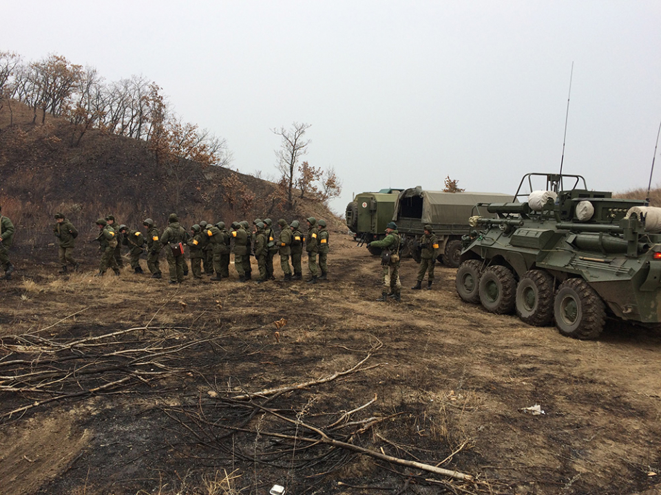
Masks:
[[[386,236],[386,225],[392,221],[395,201],[401,189],[381,189],[379,192],[361,192],[346,206],[346,226],[360,245],[379,241]],[[369,248],[372,254],[381,254]]]

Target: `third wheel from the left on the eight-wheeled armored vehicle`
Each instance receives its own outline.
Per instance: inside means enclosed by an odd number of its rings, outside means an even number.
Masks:
[[[554,279],[544,270],[529,270],[516,286],[516,314],[534,327],[548,327],[553,321]]]

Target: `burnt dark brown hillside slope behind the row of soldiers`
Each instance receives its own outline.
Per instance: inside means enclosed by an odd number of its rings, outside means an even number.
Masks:
[[[7,107],[0,110],[0,204],[20,229],[19,250],[52,242],[48,225],[58,211],[90,234],[94,221],[109,213],[134,228],[146,217],[164,225],[171,212],[178,212],[184,225],[314,215],[342,228],[318,201],[299,199],[294,210],[284,209],[269,181],[194,162],[174,173],[156,163],[144,141],[98,130],[87,131],[73,146],[75,130],[68,122],[47,115],[44,125],[32,124],[30,109],[18,102],[12,112],[10,126]]]

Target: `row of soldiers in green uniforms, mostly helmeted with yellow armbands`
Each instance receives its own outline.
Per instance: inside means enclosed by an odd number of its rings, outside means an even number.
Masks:
[[[74,239],[78,232],[63,214],[57,213],[55,219],[53,232],[59,239],[59,260],[62,266],[60,273],[67,273],[68,265],[78,270],[79,263],[72,257]],[[202,270],[204,274],[211,276],[212,281],[228,278],[230,254],[233,254],[234,267],[240,282],[252,280],[251,255],[255,256],[258,262],[260,274],[256,282],[275,280],[273,257],[278,254],[284,281],[297,281],[303,278],[302,255],[305,250],[311,275],[308,283],[315,284],[317,280],[328,279],[326,260],[329,236],[324,220],[317,222],[314,217],[308,217],[306,223],[305,235],[300,230],[299,221],[294,220],[290,225],[284,219],[277,221],[277,233],[271,219],[255,219],[253,228],[250,228],[247,221],[233,222],[229,229],[222,221],[215,225],[200,221],[190,230],[186,230],[180,225],[177,214],[172,213],[162,232],[154,220],[145,219],[143,234],[140,230],[127,228],[126,225],[116,225],[114,216],[108,215],[96,220],[99,230],[96,241],[101,246],[101,261],[96,276],[103,276],[109,269],[116,275],[120,274],[120,268],[123,267],[122,246],[126,246],[129,263],[136,274],[144,273],[140,267],[140,256],[146,251],[147,268],[151,278],[162,278],[159,259],[160,252],[165,250],[169,283],[182,283],[188,274],[185,261],[185,247],[188,247],[193,278],[202,278]]]

